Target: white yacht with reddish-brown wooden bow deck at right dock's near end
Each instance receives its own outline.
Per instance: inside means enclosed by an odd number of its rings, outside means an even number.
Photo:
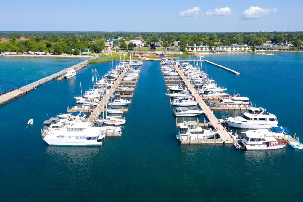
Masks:
[[[285,147],[287,140],[265,136],[263,134],[246,134],[242,139],[243,148],[247,150],[274,150]]]

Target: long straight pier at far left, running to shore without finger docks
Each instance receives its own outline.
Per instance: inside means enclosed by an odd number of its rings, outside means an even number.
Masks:
[[[93,57],[93,58],[90,58],[90,59],[94,59],[96,57]],[[88,59],[88,60],[90,60],[90,59]],[[75,64],[75,65],[70,66],[68,68],[74,68],[75,71],[77,72],[80,69],[82,69],[83,67],[87,66],[88,60],[85,60],[81,63]],[[57,72],[57,73],[52,74],[50,76],[46,76],[43,79],[39,79],[38,81],[32,82],[32,83],[30,83],[26,86],[23,86],[19,89],[12,89],[10,91],[7,91],[7,92],[4,92],[4,93],[0,94],[0,106],[4,105],[6,103],[9,103],[10,101],[12,101],[12,100],[14,100],[18,97],[23,96],[24,94],[30,92],[31,90],[35,89],[38,86],[41,86],[41,85],[43,85],[43,84],[45,84],[49,81],[52,81],[56,78],[64,76],[66,74],[68,68],[65,68],[65,69],[61,70],[60,72]]]

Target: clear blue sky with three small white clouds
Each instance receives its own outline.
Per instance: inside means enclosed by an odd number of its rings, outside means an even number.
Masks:
[[[0,30],[121,32],[302,31],[301,0],[1,2]]]

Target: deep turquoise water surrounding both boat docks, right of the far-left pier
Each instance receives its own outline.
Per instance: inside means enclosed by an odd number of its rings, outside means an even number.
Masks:
[[[294,103],[302,96],[302,56],[208,56],[241,75],[207,70],[219,85],[267,107],[300,134],[302,105]],[[40,132],[45,112],[66,112],[79,82],[87,86],[92,69],[104,75],[111,66],[88,66],[0,107],[1,201],[301,201],[301,150],[180,145],[156,61],[144,62],[121,137],[106,137],[102,147],[48,146]],[[34,125],[27,126],[31,118]]]

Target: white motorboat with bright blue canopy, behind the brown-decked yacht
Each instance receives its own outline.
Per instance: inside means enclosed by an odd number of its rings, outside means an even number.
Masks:
[[[285,127],[273,126],[268,129],[257,129],[257,130],[242,130],[243,134],[262,134],[270,137],[278,137],[282,139],[292,138],[290,132]]]

